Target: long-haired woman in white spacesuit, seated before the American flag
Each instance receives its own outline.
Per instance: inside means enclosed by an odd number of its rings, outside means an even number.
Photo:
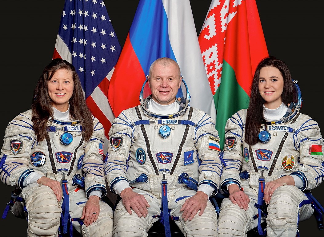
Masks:
[[[84,99],[74,66],[54,59],[43,70],[31,109],[8,125],[1,180],[14,186],[11,211],[28,218],[27,236],[111,236],[113,212],[103,168],[104,128]]]

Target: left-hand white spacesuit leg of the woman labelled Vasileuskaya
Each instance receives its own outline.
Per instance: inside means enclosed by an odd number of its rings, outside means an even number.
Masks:
[[[245,236],[251,221],[247,212],[224,198],[218,217],[219,236]]]

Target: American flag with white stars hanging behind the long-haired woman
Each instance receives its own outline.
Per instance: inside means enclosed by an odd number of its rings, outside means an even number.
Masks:
[[[102,0],[66,0],[53,59],[71,62],[77,70],[88,107],[105,128],[115,118],[108,102],[110,77],[121,46]]]

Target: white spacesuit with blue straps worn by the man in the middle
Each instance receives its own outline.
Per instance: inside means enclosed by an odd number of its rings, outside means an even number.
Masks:
[[[119,194],[116,186],[124,183],[143,194],[150,207],[147,216],[140,218],[134,211],[130,215],[120,200],[114,211],[113,235],[147,236],[160,215],[169,218],[163,208],[167,202],[170,216],[186,236],[217,236],[217,215],[209,200],[203,215],[197,213],[192,220],[184,221],[179,211],[185,200],[196,194],[183,177],[197,181],[198,190],[207,186],[211,195],[218,191],[222,165],[213,119],[188,107],[183,97],[178,113],[157,115],[148,110],[147,104],[154,103],[153,99],[149,102],[151,96],[145,98],[140,106],[126,109],[114,119],[105,171],[113,193]],[[147,180],[136,182],[142,174]]]

